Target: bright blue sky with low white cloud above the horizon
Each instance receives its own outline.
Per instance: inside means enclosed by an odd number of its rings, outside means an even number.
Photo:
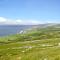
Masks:
[[[60,23],[60,0],[0,0],[0,24]]]

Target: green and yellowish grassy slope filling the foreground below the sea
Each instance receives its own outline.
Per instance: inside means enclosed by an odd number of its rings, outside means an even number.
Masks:
[[[0,38],[0,60],[60,60],[60,28]]]

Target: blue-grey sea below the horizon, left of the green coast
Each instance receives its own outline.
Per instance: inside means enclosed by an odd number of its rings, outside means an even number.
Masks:
[[[30,27],[31,25],[0,25],[0,37],[17,34]]]

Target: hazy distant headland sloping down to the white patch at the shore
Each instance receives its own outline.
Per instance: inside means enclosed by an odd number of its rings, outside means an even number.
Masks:
[[[39,24],[39,25],[32,25],[31,27],[21,30],[19,34],[31,33],[31,32],[38,32],[38,31],[60,31],[60,24],[50,23],[50,24]]]

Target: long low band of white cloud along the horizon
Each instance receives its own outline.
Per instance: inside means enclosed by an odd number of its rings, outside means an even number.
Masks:
[[[4,17],[0,17],[0,25],[37,25],[37,24],[45,24],[45,23],[59,23],[57,20],[21,20],[21,19],[7,19]]]

